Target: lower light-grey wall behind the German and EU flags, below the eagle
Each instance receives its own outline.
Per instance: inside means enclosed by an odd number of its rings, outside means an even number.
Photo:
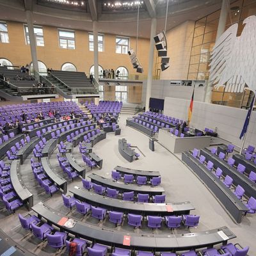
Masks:
[[[190,99],[184,100],[166,97],[164,99],[164,115],[187,120],[189,104]],[[194,101],[191,126],[198,129],[204,129],[205,127],[215,129],[217,127],[220,138],[241,147],[242,140],[239,140],[239,136],[246,115],[247,110],[245,109]],[[252,113],[245,147],[248,144],[256,147],[256,111]]]

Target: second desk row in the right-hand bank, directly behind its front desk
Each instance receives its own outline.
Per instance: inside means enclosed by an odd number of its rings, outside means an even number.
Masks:
[[[240,185],[245,190],[245,195],[248,197],[253,196],[256,198],[256,184],[248,179],[243,173],[240,173],[236,170],[236,168],[227,164],[227,162],[221,160],[215,154],[212,154],[209,150],[200,150],[200,155],[205,156],[207,161],[212,161],[214,164],[214,168],[221,168],[223,173],[229,175],[233,179],[233,183],[237,186]]]

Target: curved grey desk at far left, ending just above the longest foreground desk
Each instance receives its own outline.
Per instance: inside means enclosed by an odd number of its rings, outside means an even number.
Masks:
[[[33,195],[26,188],[20,177],[20,161],[13,160],[10,167],[10,178],[13,189],[24,204],[28,204],[29,211],[33,206]]]

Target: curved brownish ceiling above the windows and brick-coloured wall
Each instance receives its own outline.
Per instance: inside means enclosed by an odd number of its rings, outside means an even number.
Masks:
[[[93,0],[88,0],[93,1]],[[0,19],[26,22],[24,3],[31,3],[33,22],[38,25],[56,26],[60,28],[81,29],[92,31],[92,13],[63,10],[49,5],[40,5],[36,0],[0,0]],[[144,0],[151,3],[156,9],[157,33],[164,29],[166,0]],[[166,31],[185,22],[186,20],[198,20],[205,15],[221,8],[221,0],[170,0]],[[87,2],[86,2],[87,3]],[[136,36],[137,12],[100,12],[100,4],[97,3],[98,29],[102,33],[115,35]],[[147,3],[147,4],[148,4]],[[139,22],[139,36],[150,37],[150,12],[148,8],[141,8]]]

